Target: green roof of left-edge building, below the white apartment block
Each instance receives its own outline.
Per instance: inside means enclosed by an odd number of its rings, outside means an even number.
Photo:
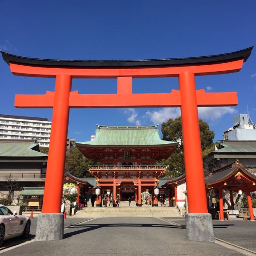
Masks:
[[[0,142],[0,157],[47,157],[36,143]]]

